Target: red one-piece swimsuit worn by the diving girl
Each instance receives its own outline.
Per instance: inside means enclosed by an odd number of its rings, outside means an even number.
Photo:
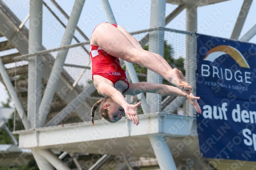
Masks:
[[[117,28],[116,24],[113,24]],[[123,80],[128,87],[123,93],[129,89],[129,82],[126,78],[126,72],[122,69],[119,58],[104,52],[99,46],[91,44],[90,56],[92,59],[92,77],[93,75],[102,76],[110,80],[114,86],[119,80]]]

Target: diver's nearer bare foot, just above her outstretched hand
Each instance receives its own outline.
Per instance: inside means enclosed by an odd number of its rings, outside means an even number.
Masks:
[[[174,68],[174,69],[170,70],[169,82],[172,83],[173,85],[175,85],[176,87],[178,87],[181,90],[190,91],[192,89],[192,87],[186,82],[183,75],[182,75],[182,77],[183,77],[183,80],[185,80],[185,81],[183,81],[181,79],[181,75],[182,74],[180,74],[180,71],[177,68]]]

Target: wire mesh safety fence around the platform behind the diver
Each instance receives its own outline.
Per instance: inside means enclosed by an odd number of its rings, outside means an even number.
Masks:
[[[157,33],[162,38],[158,38],[157,43],[160,45],[150,46],[152,40],[148,37],[151,32]],[[194,33],[176,31],[171,29],[150,29],[145,31],[139,31],[132,33],[133,37],[140,42],[144,50],[150,49],[150,51],[162,52],[163,58],[173,68],[178,68],[183,72],[183,75],[188,80],[189,84],[193,85],[195,91],[195,68],[196,68],[196,41]],[[157,44],[154,43],[154,44]],[[150,44],[150,45],[148,45]],[[154,49],[157,48],[157,49]],[[41,54],[42,57],[42,84],[41,84],[41,98],[44,95],[52,95],[45,93],[45,89],[48,85],[48,80],[51,75],[53,64],[56,57],[66,57],[65,64],[62,68],[61,75],[58,80],[56,91],[53,94],[52,102],[49,107],[49,111],[46,117],[45,126],[63,125],[87,122],[91,120],[91,108],[93,104],[102,99],[103,96],[97,93],[97,90],[93,86],[92,73],[90,69],[91,60],[88,52],[90,51],[90,42],[83,43],[80,46],[76,44],[70,45],[67,50],[51,50]],[[38,55],[39,56],[39,55]],[[15,86],[18,98],[22,103],[22,106],[27,113],[27,101],[28,101],[28,61],[24,60],[16,61],[15,63],[6,64],[7,72],[13,85]],[[194,63],[194,64],[193,64]],[[124,70],[127,70],[123,61],[120,64]],[[148,70],[138,64],[133,64],[138,77],[139,82],[147,81]],[[156,65],[156,67],[158,67]],[[128,74],[130,82],[130,75]],[[151,78],[152,79],[152,78]],[[167,80],[156,77],[162,84],[172,85]],[[153,77],[154,80],[154,77]],[[50,82],[51,83],[51,82]],[[83,96],[83,97],[81,97]],[[147,94],[144,93],[145,98]],[[154,97],[154,96],[153,96]],[[125,99],[130,104],[136,104],[140,100],[137,95],[126,95]],[[184,103],[186,99],[181,96],[160,96],[160,108],[159,112],[190,115],[193,116],[196,112],[189,110]],[[153,101],[153,100],[146,101]],[[152,103],[147,103],[152,105]],[[97,112],[97,111],[96,111]],[[137,108],[138,114],[143,114],[141,106]],[[58,117],[58,121],[56,120]],[[100,119],[96,113],[94,119]],[[33,118],[30,121],[34,121]],[[14,131],[23,130],[24,126],[19,118],[18,114],[15,114],[14,118]]]

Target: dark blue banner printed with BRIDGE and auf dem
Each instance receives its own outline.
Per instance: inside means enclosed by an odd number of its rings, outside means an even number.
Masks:
[[[256,45],[197,35],[201,155],[256,161]]]

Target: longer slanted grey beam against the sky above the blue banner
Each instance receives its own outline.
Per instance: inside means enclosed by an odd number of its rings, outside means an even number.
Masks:
[[[251,7],[251,3],[252,3],[252,0],[244,0],[244,3],[238,15],[238,19],[237,19],[236,25],[234,26],[230,39],[239,38],[242,28],[244,26],[245,19]]]

